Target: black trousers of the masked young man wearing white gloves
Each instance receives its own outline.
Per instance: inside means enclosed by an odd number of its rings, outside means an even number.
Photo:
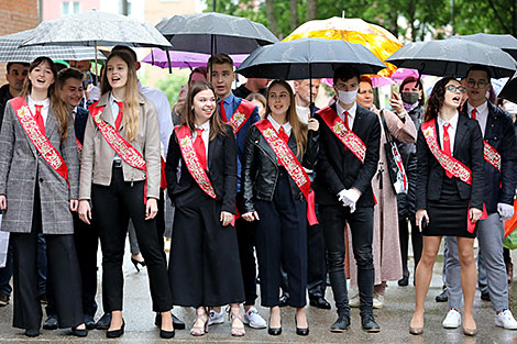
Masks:
[[[372,314],[374,287],[373,207],[358,208],[355,212],[351,213],[350,208],[343,208],[341,204],[320,204],[319,215],[327,246],[327,269],[338,314],[350,314],[346,277],[344,276],[345,222],[349,223],[352,232],[352,251],[358,265],[361,317]]]

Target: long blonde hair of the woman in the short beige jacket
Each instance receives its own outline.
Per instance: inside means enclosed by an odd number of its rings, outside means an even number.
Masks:
[[[123,133],[128,141],[134,141],[136,133],[139,132],[140,125],[140,97],[139,97],[139,79],[136,78],[136,71],[134,70],[134,62],[131,56],[122,51],[117,51],[110,54],[106,60],[106,66],[113,58],[119,57],[128,65],[128,80],[124,86],[124,129]],[[102,73],[102,80],[100,84],[101,93],[105,95],[112,90],[111,85],[108,81],[108,68],[105,68]]]

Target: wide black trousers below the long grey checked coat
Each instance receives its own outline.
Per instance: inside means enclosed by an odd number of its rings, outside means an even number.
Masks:
[[[31,233],[11,233],[13,248],[13,326],[40,330],[42,308],[37,277],[37,241],[42,229],[40,190],[34,192]],[[45,234],[47,293],[54,300],[58,326],[73,328],[84,322],[81,280],[73,234]]]

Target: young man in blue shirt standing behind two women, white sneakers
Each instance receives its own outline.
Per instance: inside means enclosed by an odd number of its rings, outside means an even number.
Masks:
[[[258,122],[258,109],[245,99],[235,97],[232,93],[232,82],[235,79],[233,71],[233,60],[227,54],[216,54],[210,57],[207,64],[208,75],[216,89],[218,97],[218,112],[222,120],[233,127],[237,136],[238,149],[238,186],[237,186],[237,208],[242,210],[242,186],[241,168],[242,153],[248,130],[253,123]],[[240,212],[241,213],[241,212]],[[235,221],[237,237],[239,242],[239,255],[241,259],[242,277],[244,279],[244,323],[254,329],[265,329],[266,322],[258,314],[255,304],[256,299],[256,267],[255,256],[253,254],[253,230],[252,224],[238,219]],[[209,324],[222,323],[223,313],[220,309],[210,311]]]

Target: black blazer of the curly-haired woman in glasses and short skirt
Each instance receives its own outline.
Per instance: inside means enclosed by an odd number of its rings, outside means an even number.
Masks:
[[[438,126],[438,124],[437,124]],[[440,132],[437,127],[438,142],[440,142]],[[460,114],[458,127],[454,136],[454,148],[452,152],[454,158],[463,163],[472,171],[472,185],[454,178],[460,198],[471,200],[471,208],[483,209],[483,189],[484,189],[484,157],[483,138],[477,121]],[[448,178],[446,170],[432,155],[421,129],[418,131],[417,138],[417,204],[416,209],[427,209],[427,200],[437,201],[440,199],[443,178]]]

